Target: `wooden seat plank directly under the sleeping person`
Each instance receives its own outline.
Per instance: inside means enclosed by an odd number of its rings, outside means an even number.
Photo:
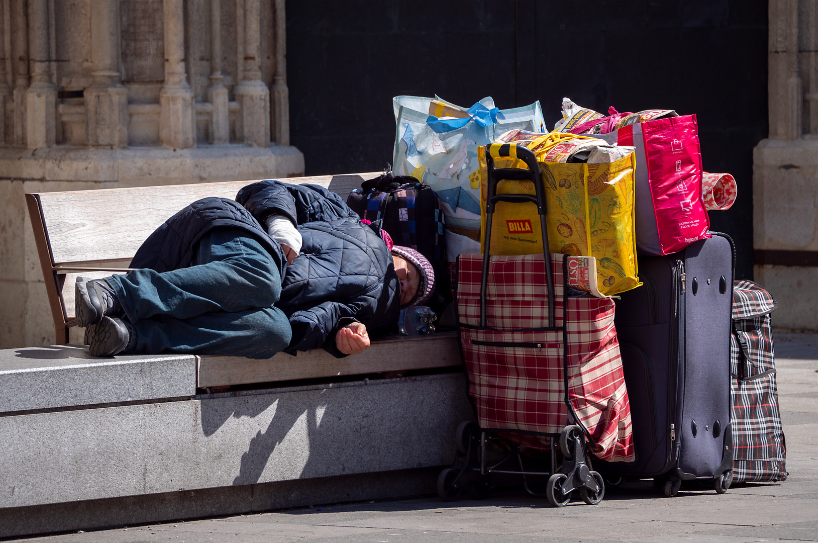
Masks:
[[[200,355],[196,387],[404,372],[461,364],[457,334],[436,333],[432,336],[391,337],[375,341],[361,354],[340,359],[323,349],[299,352],[298,356],[279,353],[268,360]]]

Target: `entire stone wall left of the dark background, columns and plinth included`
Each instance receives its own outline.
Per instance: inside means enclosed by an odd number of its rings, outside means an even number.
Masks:
[[[25,192],[303,174],[284,8],[0,0],[0,348],[54,342]]]

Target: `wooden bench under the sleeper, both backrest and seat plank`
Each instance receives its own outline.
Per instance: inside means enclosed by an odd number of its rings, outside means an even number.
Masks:
[[[287,179],[312,183],[346,198],[366,179],[380,173],[324,175]],[[253,181],[198,183],[160,187],[113,188],[26,194],[40,264],[51,305],[56,343],[69,343],[74,319],[77,275],[106,277],[125,273],[142,242],[171,215],[204,197],[234,198]],[[268,362],[238,357],[200,355],[196,386],[224,387],[253,382],[327,378],[364,373],[402,373],[461,364],[454,333],[431,337],[392,337],[361,355],[336,360],[325,351],[281,353]]]

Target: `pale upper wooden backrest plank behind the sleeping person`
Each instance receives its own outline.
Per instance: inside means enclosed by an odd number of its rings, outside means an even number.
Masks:
[[[290,178],[313,183],[346,198],[380,172]],[[52,264],[130,260],[142,242],[166,219],[205,197],[235,198],[254,181],[196,183],[159,187],[43,192],[38,199],[47,230]]]

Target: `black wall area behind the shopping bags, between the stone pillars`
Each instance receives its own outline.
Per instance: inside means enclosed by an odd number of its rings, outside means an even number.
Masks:
[[[386,167],[400,94],[539,100],[551,127],[562,97],[600,112],[695,113],[704,170],[739,183],[712,229],[735,239],[736,276],[752,278],[766,1],[290,0],[286,10],[291,142],[308,175]]]

